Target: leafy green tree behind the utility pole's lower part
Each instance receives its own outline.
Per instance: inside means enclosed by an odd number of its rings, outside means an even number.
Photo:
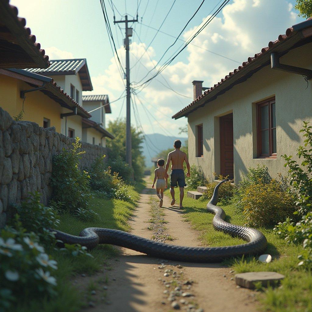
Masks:
[[[129,168],[127,170],[126,159],[126,120],[116,119],[110,121],[107,127],[107,131],[115,136],[113,140],[107,140],[106,146],[110,148],[108,164],[112,167],[112,171],[119,172],[119,175],[124,180],[129,180],[129,174],[132,175]],[[143,135],[141,131],[131,126],[131,138],[132,138],[132,168],[134,170],[134,179],[140,180],[143,177],[144,172],[144,157],[142,154],[142,147],[140,144],[143,142]],[[114,164],[116,166],[114,166]],[[115,168],[116,167],[116,168]],[[118,168],[119,167],[119,168]]]

